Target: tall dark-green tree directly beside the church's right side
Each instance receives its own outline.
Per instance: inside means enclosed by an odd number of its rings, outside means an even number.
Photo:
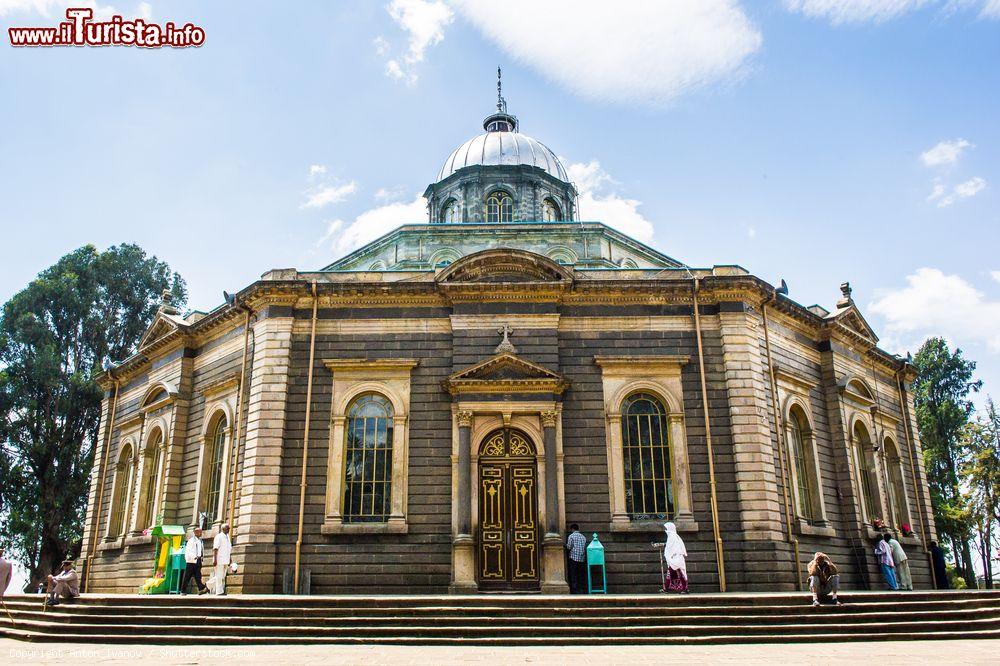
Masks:
[[[951,545],[956,566],[970,586],[975,584],[969,549],[972,520],[959,483],[959,445],[973,411],[969,394],[982,382],[973,379],[975,361],[954,353],[942,338],[929,338],[913,358],[917,426],[924,448],[934,522]]]

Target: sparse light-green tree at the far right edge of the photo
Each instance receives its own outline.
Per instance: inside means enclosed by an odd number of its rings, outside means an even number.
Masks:
[[[1000,413],[992,399],[986,413],[966,428],[959,467],[986,587],[993,588],[993,538],[1000,522]]]

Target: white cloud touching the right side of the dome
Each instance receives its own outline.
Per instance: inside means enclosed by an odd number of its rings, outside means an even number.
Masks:
[[[577,205],[581,220],[604,222],[644,243],[653,239],[652,223],[639,212],[642,202],[610,191],[617,182],[601,168],[600,162],[570,164],[566,172],[580,192]]]

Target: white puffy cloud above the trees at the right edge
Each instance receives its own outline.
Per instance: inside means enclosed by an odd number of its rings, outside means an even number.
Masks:
[[[881,290],[869,309],[885,318],[882,342],[892,351],[916,349],[926,337],[940,335],[957,345],[983,343],[1000,352],[1000,301],[958,275],[920,268],[906,277],[905,287]]]

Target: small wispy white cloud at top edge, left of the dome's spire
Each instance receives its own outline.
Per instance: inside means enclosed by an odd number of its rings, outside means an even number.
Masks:
[[[392,0],[386,5],[386,11],[396,25],[406,31],[408,43],[402,55],[386,61],[385,73],[413,85],[417,82],[416,65],[424,61],[427,49],[444,39],[445,26],[455,15],[441,0]],[[381,35],[375,38],[374,45],[380,56],[388,56],[392,51],[392,45]]]

